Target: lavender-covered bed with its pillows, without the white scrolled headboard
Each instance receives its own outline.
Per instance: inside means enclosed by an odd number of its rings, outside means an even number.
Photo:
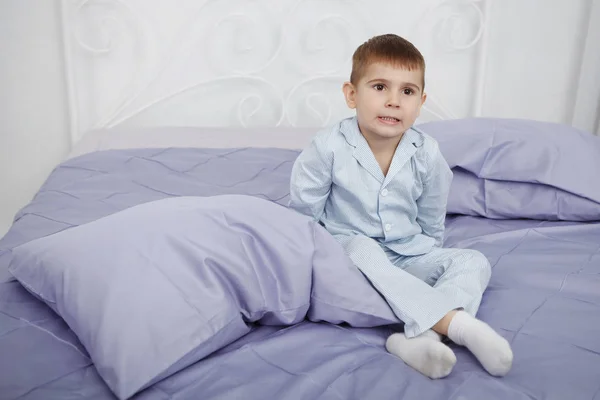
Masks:
[[[455,174],[444,245],[493,265],[478,316],[513,346],[504,378],[457,346],[437,381],[385,351],[401,321],[287,208],[298,149],[165,128],[90,135],[0,240],[0,398],[598,399],[600,139],[525,120],[420,128]]]

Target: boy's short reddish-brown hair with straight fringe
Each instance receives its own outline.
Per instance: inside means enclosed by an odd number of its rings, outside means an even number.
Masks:
[[[361,44],[352,55],[350,82],[356,85],[370,64],[382,62],[413,71],[423,71],[422,89],[425,89],[425,59],[408,40],[394,34],[372,37]]]

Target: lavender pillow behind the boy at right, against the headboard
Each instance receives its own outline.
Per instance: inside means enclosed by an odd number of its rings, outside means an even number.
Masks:
[[[448,213],[600,220],[600,138],[518,119],[436,121],[431,135],[454,172]]]

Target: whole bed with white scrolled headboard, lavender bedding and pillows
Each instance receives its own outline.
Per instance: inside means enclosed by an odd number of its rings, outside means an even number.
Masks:
[[[482,117],[491,1],[57,4],[74,147],[0,238],[0,400],[600,400],[600,138]],[[351,51],[388,31],[428,61],[444,246],[493,266],[503,378],[454,345],[435,381],[386,352],[402,322],[287,208]]]

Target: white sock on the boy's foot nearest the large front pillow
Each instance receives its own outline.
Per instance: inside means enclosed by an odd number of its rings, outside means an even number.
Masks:
[[[440,340],[432,330],[410,339],[404,333],[394,333],[385,348],[423,375],[439,379],[448,376],[456,364],[454,352]]]

